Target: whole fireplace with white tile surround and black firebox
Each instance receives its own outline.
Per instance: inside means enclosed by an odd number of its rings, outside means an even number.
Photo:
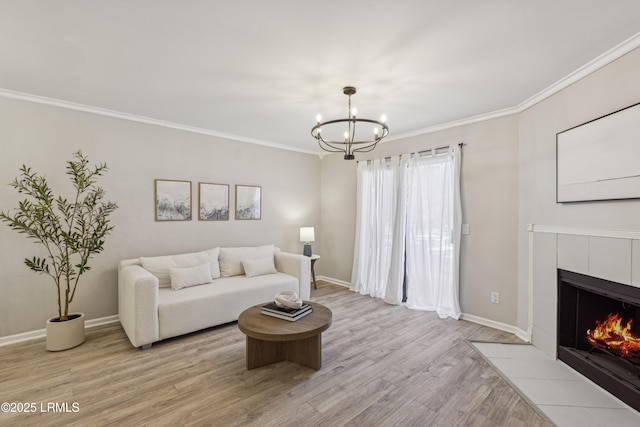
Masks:
[[[533,345],[640,411],[640,354],[621,349],[621,332],[603,338],[618,324],[640,339],[640,233],[529,231]]]

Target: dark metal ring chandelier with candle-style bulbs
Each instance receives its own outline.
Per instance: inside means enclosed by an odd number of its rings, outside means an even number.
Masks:
[[[366,153],[376,148],[378,142],[380,142],[385,136],[389,135],[389,128],[385,123],[385,116],[382,116],[380,121],[356,117],[357,110],[355,107],[351,108],[351,95],[356,93],[355,87],[345,86],[342,89],[342,93],[349,97],[347,118],[321,122],[322,118],[318,114],[316,118],[317,123],[313,128],[311,128],[311,136],[318,140],[318,145],[324,151],[331,153],[344,153],[345,160],[353,160],[355,158],[354,153]],[[366,130],[372,132],[372,136],[365,139],[356,139],[356,124],[361,125],[361,127],[368,128]],[[323,127],[325,127],[325,129],[330,128],[333,132],[336,132],[335,128],[337,127],[340,127],[340,130],[337,131],[335,135],[325,138],[322,135]],[[338,136],[342,129],[345,129],[344,134]],[[339,137],[343,137],[344,139],[338,140]]]

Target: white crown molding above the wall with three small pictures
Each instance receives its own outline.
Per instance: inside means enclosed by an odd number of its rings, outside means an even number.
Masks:
[[[297,147],[292,147],[290,145],[278,144],[278,143],[271,142],[271,141],[265,141],[265,140],[254,139],[254,138],[247,138],[247,137],[240,136],[240,135],[233,135],[233,134],[230,134],[230,133],[218,132],[218,131],[214,131],[214,130],[210,130],[210,129],[204,129],[204,128],[199,128],[199,127],[195,127],[195,126],[183,125],[183,124],[180,124],[180,123],[173,123],[173,122],[168,122],[168,121],[164,121],[164,120],[157,120],[157,119],[152,119],[150,117],[139,116],[139,115],[136,115],[136,114],[128,114],[128,113],[123,113],[123,112],[120,112],[120,111],[108,110],[106,108],[92,107],[92,106],[89,106],[89,105],[78,104],[78,103],[75,103],[75,102],[62,101],[62,100],[59,100],[59,99],[47,98],[47,97],[44,97],[44,96],[32,95],[32,94],[29,94],[29,93],[17,92],[17,91],[8,90],[8,89],[0,89],[0,96],[3,97],[3,98],[11,98],[11,99],[17,99],[17,100],[20,100],[20,101],[28,101],[28,102],[34,102],[34,103],[37,103],[37,104],[44,104],[44,105],[49,105],[49,106],[53,106],[53,107],[65,108],[67,110],[82,111],[82,112],[85,112],[85,113],[92,113],[92,114],[97,114],[97,115],[100,115],[100,116],[107,116],[107,117],[112,117],[112,118],[121,119],[121,120],[128,120],[128,121],[131,121],[131,122],[144,123],[144,124],[153,125],[153,126],[161,126],[161,127],[166,127],[166,128],[169,128],[169,129],[181,130],[181,131],[184,131],[184,132],[191,132],[191,133],[198,133],[198,134],[201,134],[201,135],[215,136],[215,137],[218,137],[218,138],[230,139],[230,140],[233,140],[233,141],[246,142],[248,144],[262,145],[262,146],[265,146],[265,147],[277,148],[277,149],[280,149],[280,150],[295,151],[295,152],[298,152],[298,153],[312,154],[314,156],[318,155],[318,152],[314,151],[314,150],[306,150],[306,149],[303,149],[303,148],[297,148]]]

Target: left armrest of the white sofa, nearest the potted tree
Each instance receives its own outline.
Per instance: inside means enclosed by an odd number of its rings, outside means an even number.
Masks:
[[[118,315],[134,347],[160,339],[158,278],[140,265],[121,264],[118,269]]]

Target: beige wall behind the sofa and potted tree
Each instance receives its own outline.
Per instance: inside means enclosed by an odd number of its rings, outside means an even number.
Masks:
[[[88,319],[117,314],[118,260],[215,246],[274,243],[301,252],[300,226],[320,226],[320,158],[159,126],[0,98],[0,209],[21,200],[8,184],[22,164],[54,188],[70,188],[64,168],[77,149],[106,162],[100,181],[119,209],[106,250],[80,284],[72,309]],[[154,220],[154,179],[192,181],[192,221]],[[197,184],[262,186],[259,221],[198,221]],[[314,249],[320,251],[320,242]],[[0,336],[42,329],[57,314],[54,285],[23,264],[41,248],[0,224]]]

